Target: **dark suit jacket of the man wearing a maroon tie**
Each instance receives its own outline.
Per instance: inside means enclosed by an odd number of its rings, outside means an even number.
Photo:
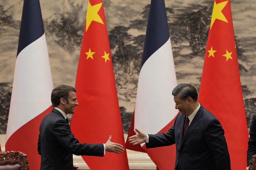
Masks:
[[[183,138],[185,119],[180,113],[167,133],[149,135],[146,148],[175,143],[175,168],[178,165],[179,170],[230,170],[228,146],[218,119],[201,105]]]

